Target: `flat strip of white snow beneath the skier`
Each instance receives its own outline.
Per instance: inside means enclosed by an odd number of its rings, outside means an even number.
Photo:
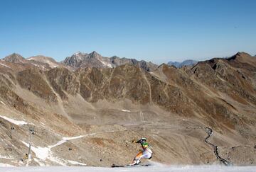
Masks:
[[[6,164],[0,164],[0,166],[6,166]],[[10,166],[10,165],[8,165]],[[48,167],[1,167],[1,172],[117,172],[117,171],[133,171],[133,172],[255,172],[256,166],[148,166],[148,167],[132,167],[132,168],[102,168],[102,167],[85,167],[85,166],[48,166]]]

